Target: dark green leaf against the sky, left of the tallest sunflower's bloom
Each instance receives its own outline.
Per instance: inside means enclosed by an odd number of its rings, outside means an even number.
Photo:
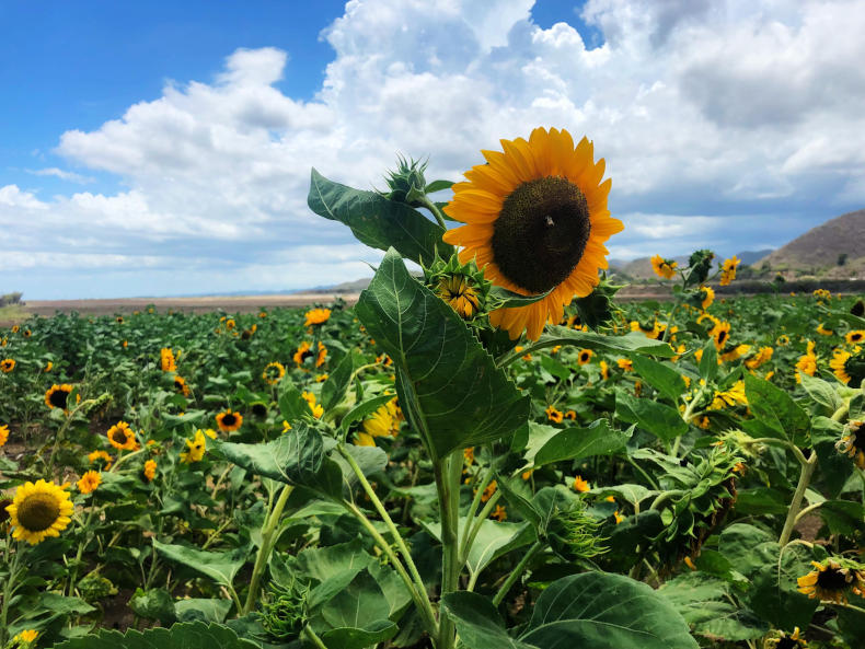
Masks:
[[[307,202],[316,215],[348,225],[358,241],[371,247],[393,247],[402,256],[425,265],[432,264],[436,250],[442,259],[453,253],[453,246],[441,241],[445,229],[417,210],[376,192],[360,192],[328,181],[314,169]]]

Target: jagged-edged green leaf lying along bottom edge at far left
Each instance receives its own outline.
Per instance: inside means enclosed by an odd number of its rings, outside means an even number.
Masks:
[[[220,624],[203,622],[175,624],[171,628],[128,630],[122,634],[101,629],[92,636],[55,645],[55,649],[258,649],[256,642],[243,640]]]

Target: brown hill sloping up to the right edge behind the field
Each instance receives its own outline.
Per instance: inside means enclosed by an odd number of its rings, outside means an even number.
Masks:
[[[865,277],[865,209],[811,228],[753,266],[798,276]]]

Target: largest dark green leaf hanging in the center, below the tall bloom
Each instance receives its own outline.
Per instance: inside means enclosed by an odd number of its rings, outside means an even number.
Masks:
[[[355,313],[396,366],[400,405],[438,456],[492,442],[529,415],[459,315],[388,251]]]

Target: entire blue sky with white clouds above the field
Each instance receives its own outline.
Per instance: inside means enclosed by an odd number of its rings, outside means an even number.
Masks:
[[[290,290],[380,253],[310,166],[458,179],[534,126],[596,142],[611,256],[774,247],[865,205],[861,3],[0,4],[0,291]],[[731,53],[735,56],[731,57]]]

